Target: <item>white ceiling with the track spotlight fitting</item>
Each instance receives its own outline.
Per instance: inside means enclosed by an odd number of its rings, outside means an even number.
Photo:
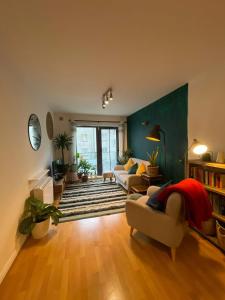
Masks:
[[[225,60],[224,0],[0,2],[0,60],[54,111],[129,115]]]

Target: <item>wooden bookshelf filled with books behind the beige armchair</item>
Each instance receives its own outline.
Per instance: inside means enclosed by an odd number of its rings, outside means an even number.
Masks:
[[[189,177],[200,181],[209,193],[214,220],[223,222],[225,226],[225,164],[190,160],[188,165]],[[214,221],[212,224],[215,225],[215,223]],[[225,253],[225,248],[218,242],[216,226],[214,234],[210,235],[195,230]]]

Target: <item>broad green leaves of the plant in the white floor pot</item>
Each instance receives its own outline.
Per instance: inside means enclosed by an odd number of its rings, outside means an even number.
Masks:
[[[42,201],[29,197],[25,201],[24,212],[19,223],[19,232],[30,234],[37,223],[52,218],[53,224],[59,223],[62,213],[54,205],[43,203]]]

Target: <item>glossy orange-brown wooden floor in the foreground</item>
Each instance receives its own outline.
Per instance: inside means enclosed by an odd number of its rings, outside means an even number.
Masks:
[[[224,255],[195,233],[177,251],[141,233],[124,214],[60,224],[29,239],[0,286],[1,300],[225,299]]]

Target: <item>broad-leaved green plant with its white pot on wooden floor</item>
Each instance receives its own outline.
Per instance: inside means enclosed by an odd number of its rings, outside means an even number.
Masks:
[[[25,201],[19,232],[32,234],[33,238],[40,239],[48,233],[50,219],[52,218],[53,224],[57,225],[61,216],[62,213],[54,205],[29,197]]]

